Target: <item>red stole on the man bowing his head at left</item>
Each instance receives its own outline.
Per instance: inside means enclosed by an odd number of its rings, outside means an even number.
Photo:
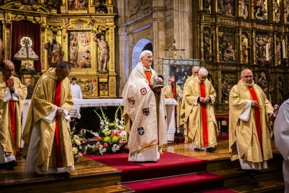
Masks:
[[[61,102],[61,81],[57,80],[57,84],[55,87],[55,94],[54,94],[54,105],[60,107]],[[59,135],[59,126],[58,126],[58,119],[55,120],[55,131],[54,131],[54,147],[55,147],[55,157],[56,157],[56,164],[57,168],[62,168],[62,154],[61,154],[61,143],[60,143],[60,135]]]

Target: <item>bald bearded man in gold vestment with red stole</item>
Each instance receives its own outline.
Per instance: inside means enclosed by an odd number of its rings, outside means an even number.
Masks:
[[[229,97],[229,147],[231,160],[239,159],[242,169],[267,169],[267,160],[272,158],[269,127],[274,108],[262,89],[254,84],[253,73],[244,69],[241,80],[232,87]]]

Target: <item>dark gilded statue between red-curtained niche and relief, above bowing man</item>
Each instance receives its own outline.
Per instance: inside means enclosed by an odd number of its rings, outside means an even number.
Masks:
[[[50,41],[45,43],[45,49],[48,51],[47,56],[50,67],[55,68],[63,57],[61,45],[56,41],[56,36],[52,36],[52,43],[50,43]]]

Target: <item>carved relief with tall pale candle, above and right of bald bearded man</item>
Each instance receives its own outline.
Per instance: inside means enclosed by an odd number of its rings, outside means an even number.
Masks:
[[[268,34],[255,35],[255,57],[256,63],[264,65],[272,61],[272,40]]]

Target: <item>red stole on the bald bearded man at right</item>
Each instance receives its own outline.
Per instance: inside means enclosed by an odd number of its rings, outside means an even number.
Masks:
[[[250,94],[252,96],[252,99],[254,101],[258,102],[258,106],[260,106],[260,103],[258,101],[258,96],[253,89],[253,87],[249,87]],[[260,117],[260,108],[253,108],[255,110],[255,124],[256,124],[256,129],[257,129],[257,134],[258,134],[258,140],[261,148],[261,152],[263,152],[263,147],[262,147],[262,131],[261,131],[261,117]]]

